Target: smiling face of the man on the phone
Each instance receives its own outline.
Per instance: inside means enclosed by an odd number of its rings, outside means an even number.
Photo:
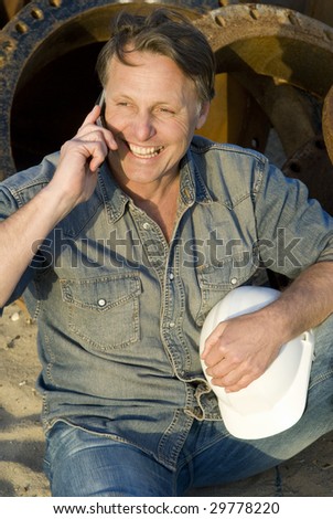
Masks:
[[[139,193],[179,172],[208,104],[201,105],[193,81],[171,59],[133,52],[129,60],[136,66],[111,60],[105,118],[118,144],[109,152],[111,170],[121,187]]]

